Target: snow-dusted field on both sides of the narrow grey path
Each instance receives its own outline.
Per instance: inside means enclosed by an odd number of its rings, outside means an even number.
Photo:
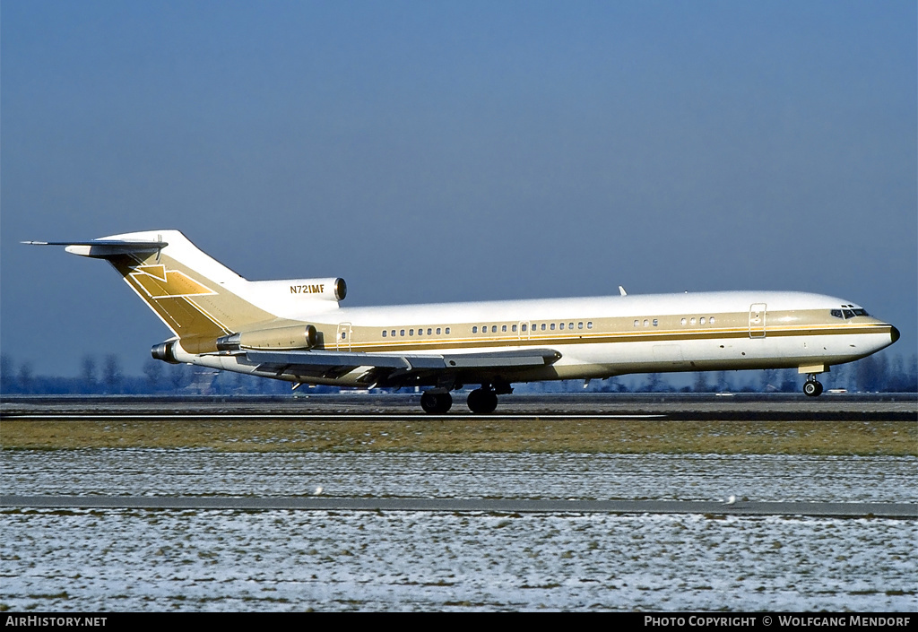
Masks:
[[[15,494],[915,502],[913,457],[5,452]],[[918,608],[918,521],[6,510],[12,610]]]

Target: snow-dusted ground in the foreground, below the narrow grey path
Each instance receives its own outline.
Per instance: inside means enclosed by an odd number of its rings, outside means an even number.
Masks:
[[[914,611],[914,521],[6,511],[2,601],[162,610]]]

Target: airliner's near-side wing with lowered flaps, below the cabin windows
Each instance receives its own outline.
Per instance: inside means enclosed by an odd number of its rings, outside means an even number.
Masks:
[[[471,354],[366,354],[347,351],[246,351],[259,368],[334,378],[366,367],[367,383],[379,386],[414,384],[417,378],[453,374],[468,376],[498,370],[545,367],[561,354],[554,349],[524,349]]]

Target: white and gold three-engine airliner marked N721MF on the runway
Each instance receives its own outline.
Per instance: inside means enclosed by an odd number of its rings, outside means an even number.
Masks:
[[[899,331],[845,299],[802,292],[702,292],[343,308],[341,278],[249,281],[179,231],[63,245],[106,259],[173,337],[154,358],[300,384],[423,387],[493,412],[514,382],[627,373],[796,368],[816,374],[889,346]]]

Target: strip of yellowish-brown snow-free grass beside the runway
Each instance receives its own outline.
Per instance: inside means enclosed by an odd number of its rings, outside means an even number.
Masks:
[[[631,419],[18,420],[3,449],[918,456],[918,423]]]

